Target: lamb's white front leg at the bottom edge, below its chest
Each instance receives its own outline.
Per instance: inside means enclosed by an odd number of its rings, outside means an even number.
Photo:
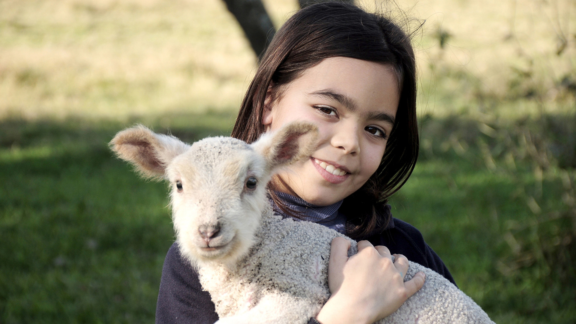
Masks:
[[[320,311],[320,304],[287,293],[270,293],[251,310],[219,319],[216,324],[306,324]]]

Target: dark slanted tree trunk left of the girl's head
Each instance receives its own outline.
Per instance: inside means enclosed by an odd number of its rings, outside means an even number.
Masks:
[[[224,0],[260,59],[276,30],[260,0]]]

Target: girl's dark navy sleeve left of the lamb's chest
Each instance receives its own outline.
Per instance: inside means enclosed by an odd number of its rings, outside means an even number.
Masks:
[[[202,290],[198,272],[172,244],[162,267],[156,324],[213,324],[218,321],[210,294]]]

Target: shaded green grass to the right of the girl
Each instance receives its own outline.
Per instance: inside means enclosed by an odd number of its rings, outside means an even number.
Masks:
[[[422,231],[459,287],[497,323],[576,320],[576,174],[546,148],[574,146],[550,141],[563,134],[550,120],[564,120],[575,136],[574,116],[494,122],[494,137],[464,116],[425,119],[429,146],[392,199],[395,216]],[[522,140],[526,134],[533,142]]]

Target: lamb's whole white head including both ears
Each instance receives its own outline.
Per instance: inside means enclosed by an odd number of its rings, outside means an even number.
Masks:
[[[231,137],[188,145],[137,126],[116,134],[111,148],[143,176],[168,180],[184,257],[233,265],[253,244],[271,176],[309,157],[316,134],[309,123],[291,123],[250,145]]]

